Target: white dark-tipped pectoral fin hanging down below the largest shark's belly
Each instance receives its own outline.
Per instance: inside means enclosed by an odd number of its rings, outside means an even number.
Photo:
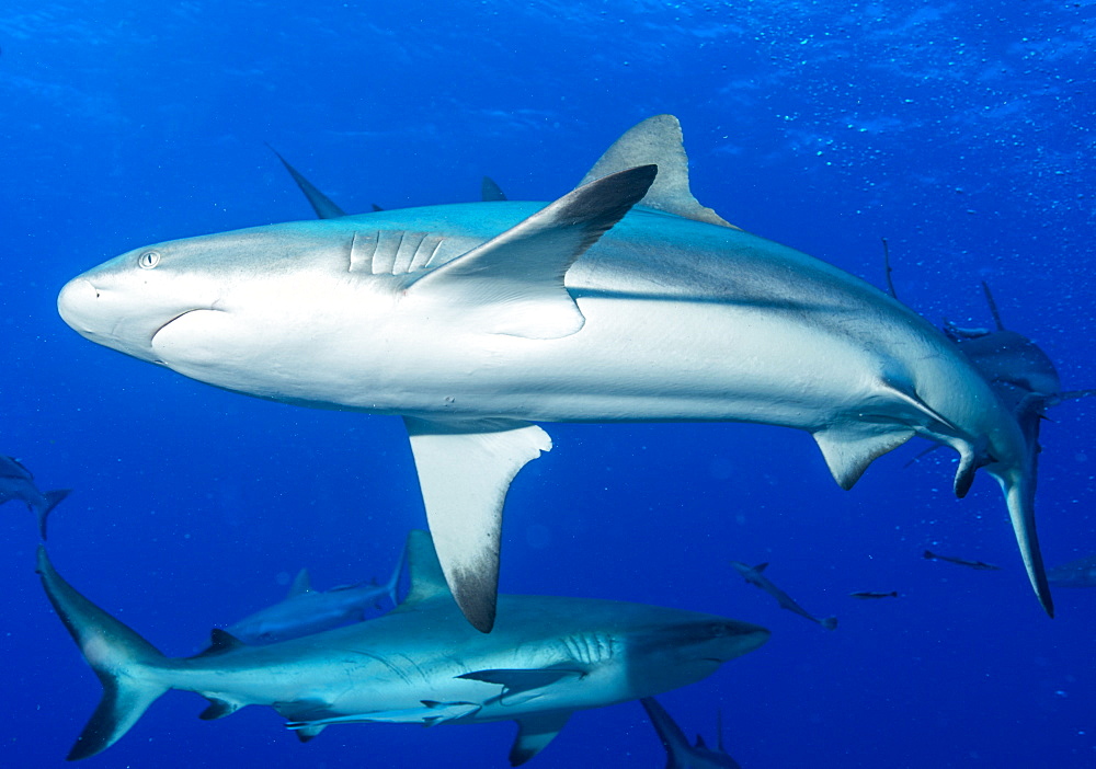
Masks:
[[[536,425],[507,420],[403,422],[445,581],[468,621],[490,632],[506,492],[526,462],[551,449],[551,438]]]

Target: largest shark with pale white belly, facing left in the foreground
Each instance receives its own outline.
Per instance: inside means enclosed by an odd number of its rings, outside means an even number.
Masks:
[[[813,436],[850,489],[920,436],[1001,485],[1047,613],[1025,433],[938,329],[693,196],[681,124],[621,136],[551,203],[286,222],[135,249],[71,279],[101,345],[251,397],[402,417],[442,567],[496,613],[510,485],[538,423],[752,422]]]

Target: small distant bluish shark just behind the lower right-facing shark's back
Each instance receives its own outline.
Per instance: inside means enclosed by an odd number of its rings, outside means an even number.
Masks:
[[[244,643],[263,644],[359,622],[370,608],[379,609],[386,601],[390,606],[399,604],[397,588],[402,572],[401,558],[383,585],[363,582],[330,590],[313,590],[308,570],[301,569],[284,599],[233,622],[227,631]]]

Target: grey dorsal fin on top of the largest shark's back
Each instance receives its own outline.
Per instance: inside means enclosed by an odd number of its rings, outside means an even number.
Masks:
[[[685,154],[682,124],[673,115],[648,117],[630,128],[605,150],[579,185],[644,163],[658,165],[659,177],[639,205],[686,219],[739,229],[693,197],[688,186],[688,157]]]

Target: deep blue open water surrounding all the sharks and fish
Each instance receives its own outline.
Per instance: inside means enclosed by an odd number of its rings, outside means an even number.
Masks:
[[[0,451],[76,491],[50,553],[168,654],[273,602],[387,574],[421,526],[393,417],[217,391],[98,347],[57,317],[69,277],[159,240],[308,218],[270,142],[351,211],[552,199],[617,136],[684,126],[697,197],[881,285],[934,322],[991,318],[1096,386],[1096,3],[92,2],[0,8]],[[1043,427],[1051,564],[1096,551],[1096,399]],[[806,434],[549,425],[518,475],[502,589],[628,599],[772,629],[665,695],[687,733],[765,767],[1093,767],[1096,590],[1031,595],[995,484],[950,492],[911,445],[840,491]],[[60,766],[100,687],[0,510],[0,766]],[[1001,564],[974,572],[925,547]],[[744,585],[769,561],[827,633]],[[853,590],[899,590],[858,602]],[[333,727],[299,745],[269,709],[208,723],[171,692],[101,767],[506,766],[509,723]],[[576,713],[530,766],[660,767],[637,703]]]

